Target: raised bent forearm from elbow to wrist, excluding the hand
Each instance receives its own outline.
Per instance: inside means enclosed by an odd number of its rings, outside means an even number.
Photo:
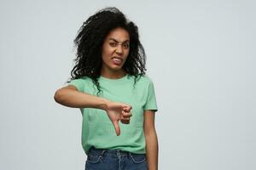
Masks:
[[[105,110],[108,99],[103,99],[90,94],[84,94],[72,89],[61,89],[55,92],[55,101],[61,105],[73,108],[96,108]]]

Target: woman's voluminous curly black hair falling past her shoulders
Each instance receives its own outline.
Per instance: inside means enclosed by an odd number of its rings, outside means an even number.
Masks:
[[[98,78],[102,69],[102,44],[108,33],[113,29],[121,27],[129,33],[130,51],[123,65],[124,71],[128,75],[134,76],[134,84],[137,77],[145,74],[146,54],[143,45],[139,41],[137,26],[125,18],[125,14],[118,8],[103,8],[96,14],[91,15],[80,27],[77,37],[74,39],[77,47],[77,58],[73,59],[75,65],[71,71],[71,78],[90,77],[98,89],[101,91]]]

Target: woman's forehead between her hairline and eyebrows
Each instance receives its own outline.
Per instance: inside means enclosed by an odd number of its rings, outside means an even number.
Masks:
[[[126,40],[130,40],[129,33],[125,31],[124,28],[115,28],[112,31],[108,33],[108,36],[106,37],[107,41],[110,39],[115,39],[119,42],[124,42]]]

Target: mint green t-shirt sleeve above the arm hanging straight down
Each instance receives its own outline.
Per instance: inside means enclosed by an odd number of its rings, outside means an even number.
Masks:
[[[147,96],[147,101],[146,104],[144,105],[144,111],[146,110],[153,110],[157,111],[157,104],[156,104],[156,99],[155,99],[155,94],[154,94],[154,84],[152,81],[149,81],[148,84],[148,96]]]

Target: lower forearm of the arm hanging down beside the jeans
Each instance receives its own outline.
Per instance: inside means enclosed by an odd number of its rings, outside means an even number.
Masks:
[[[146,151],[148,160],[148,170],[158,169],[158,140],[154,132],[145,135],[146,137]]]

